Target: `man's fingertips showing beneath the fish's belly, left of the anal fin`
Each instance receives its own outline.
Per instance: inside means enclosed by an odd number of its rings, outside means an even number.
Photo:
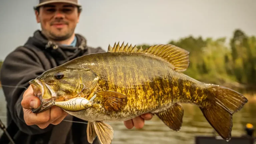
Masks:
[[[152,117],[153,117],[153,115],[151,113],[146,113],[146,114],[143,114],[141,116],[137,116],[133,119],[124,121],[124,125],[128,129],[132,129],[133,126],[137,129],[141,129],[144,126],[144,121],[145,120],[151,120]]]

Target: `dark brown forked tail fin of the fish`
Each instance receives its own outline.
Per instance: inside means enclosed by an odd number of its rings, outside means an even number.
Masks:
[[[239,111],[248,100],[242,94],[223,86],[210,86],[209,90],[213,94],[213,99],[210,104],[200,109],[217,133],[229,141],[233,127],[233,114]]]

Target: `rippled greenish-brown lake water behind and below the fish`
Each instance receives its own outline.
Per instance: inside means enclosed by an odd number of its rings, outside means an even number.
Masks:
[[[182,128],[179,132],[169,129],[156,116],[150,121],[145,121],[143,129],[127,129],[123,122],[109,123],[114,129],[112,144],[194,144],[195,136],[211,136],[213,128],[204,118],[200,109],[194,105],[182,104],[184,117]],[[245,107],[233,116],[232,136],[245,134],[246,123],[256,125],[256,103],[252,100]],[[2,89],[0,89],[0,119],[6,125],[6,103]],[[0,133],[2,131],[0,130]]]

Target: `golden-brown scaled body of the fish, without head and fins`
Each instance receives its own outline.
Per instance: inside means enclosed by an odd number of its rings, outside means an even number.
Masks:
[[[93,106],[85,111],[69,112],[87,121],[124,121],[167,109],[177,102],[198,106],[209,103],[204,95],[206,85],[173,70],[170,63],[148,55],[98,53],[74,63],[85,64],[99,77],[95,90],[87,97],[97,95]],[[108,111],[102,104],[103,94],[97,94],[102,91],[123,94],[127,96],[127,103],[118,111]]]

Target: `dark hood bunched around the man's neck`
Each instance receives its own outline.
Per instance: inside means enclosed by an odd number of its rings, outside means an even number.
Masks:
[[[47,51],[48,53],[54,55],[54,58],[60,63],[63,64],[69,60],[74,59],[77,56],[81,56],[85,51],[87,51],[86,39],[79,35],[75,34],[77,37],[76,46],[66,46],[59,45],[52,41],[49,41],[40,30],[34,32],[32,37],[29,37],[26,45],[33,45],[37,48]]]

